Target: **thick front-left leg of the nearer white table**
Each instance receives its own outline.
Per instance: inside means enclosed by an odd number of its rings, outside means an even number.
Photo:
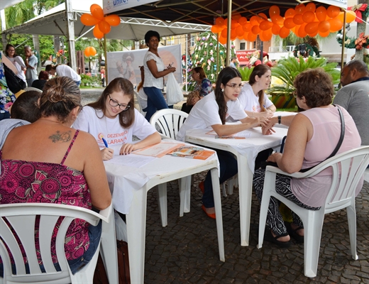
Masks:
[[[147,190],[135,190],[131,208],[126,214],[128,256],[131,283],[143,283],[145,264]]]

